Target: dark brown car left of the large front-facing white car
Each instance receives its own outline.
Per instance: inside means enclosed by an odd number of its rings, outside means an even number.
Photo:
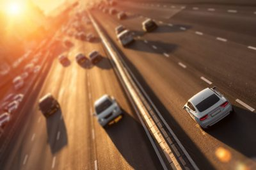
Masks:
[[[57,112],[60,110],[60,104],[51,95],[51,93],[48,93],[44,97],[40,98],[39,109],[44,114],[44,116],[47,118],[47,117],[51,116],[54,112]]]

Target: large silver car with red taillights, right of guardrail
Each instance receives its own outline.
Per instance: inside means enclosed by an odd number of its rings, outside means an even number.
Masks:
[[[211,127],[233,111],[230,102],[216,90],[216,87],[203,89],[191,97],[183,109],[202,128]]]

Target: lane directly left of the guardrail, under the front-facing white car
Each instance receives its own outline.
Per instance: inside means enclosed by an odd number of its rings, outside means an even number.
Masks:
[[[104,94],[116,98],[124,111],[124,118],[112,127],[102,128],[93,117],[97,166],[99,169],[159,169],[161,164],[140,121],[127,101],[124,89],[116,79],[110,59],[101,43],[86,45],[99,50],[103,59],[89,70],[88,97],[93,102]],[[125,135],[124,135],[125,134]]]

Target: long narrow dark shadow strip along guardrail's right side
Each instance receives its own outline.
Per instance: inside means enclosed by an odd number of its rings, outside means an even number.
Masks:
[[[177,123],[177,121],[175,120],[175,118],[173,118],[170,111],[168,111],[168,109],[163,105],[161,100],[159,100],[154,91],[152,91],[150,86],[148,86],[143,76],[140,74],[138,69],[132,64],[129,58],[125,57],[122,50],[118,49],[118,52],[120,52],[121,57],[124,59],[125,63],[132,70],[132,73],[135,75],[136,79],[138,79],[143,89],[147,92],[148,97],[150,97],[152,102],[157,106],[157,109],[163,115],[164,120],[166,120],[166,122],[168,122],[168,125],[170,125],[170,127],[173,129],[177,137],[182,142],[183,146],[188,151],[189,155],[196,162],[196,165],[199,167],[199,169],[214,169],[211,162],[209,162],[209,160],[205,158],[205,154],[202,153],[200,148],[196,146],[195,142],[191,140],[191,138],[187,135],[187,132],[184,131],[182,127],[180,127],[179,123]]]

